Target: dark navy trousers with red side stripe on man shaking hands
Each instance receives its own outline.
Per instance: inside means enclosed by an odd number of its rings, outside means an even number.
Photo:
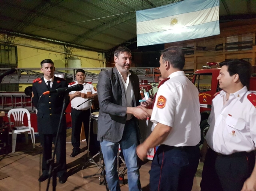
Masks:
[[[199,157],[198,145],[160,145],[151,165],[150,191],[191,191]]]

